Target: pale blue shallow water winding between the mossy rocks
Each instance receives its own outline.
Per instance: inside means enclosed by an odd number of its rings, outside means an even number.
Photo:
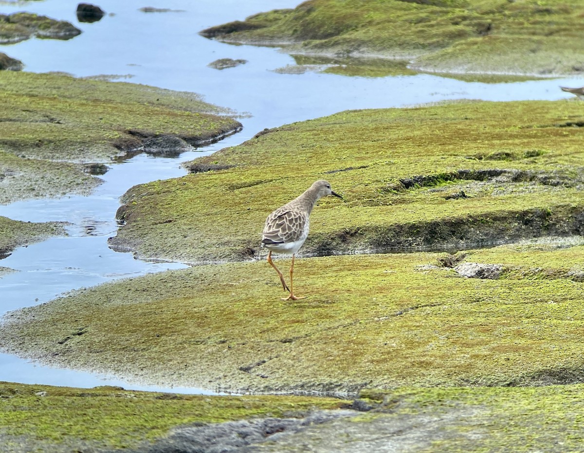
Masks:
[[[172,0],[164,2],[164,8],[182,12],[165,13],[140,12],[139,8],[148,5],[135,0],[104,0],[98,4],[107,14],[95,23],[78,23],[77,3],[68,0],[0,3],[0,13],[27,10],[69,20],[83,31],[68,41],[32,39],[0,46],[0,51],[22,60],[26,71],[60,71],[75,76],[128,75],[131,77],[121,80],[200,93],[210,103],[251,113],[251,117],[240,120],[244,131],[204,148],[204,153],[237,145],[263,128],[347,109],[403,107],[451,99],[555,100],[571,97],[561,92],[559,85],[582,85],[582,79],[577,78],[478,83],[429,74],[367,78],[314,71],[279,73],[275,70],[294,64],[292,57],[274,48],[222,44],[197,34],[206,27],[242,20],[252,13],[293,8],[297,4],[294,0]],[[207,66],[218,58],[244,58],[248,63],[223,71]],[[116,232],[119,196],[135,184],[185,174],[180,162],[200,155],[189,152],[176,159],[165,159],[139,154],[123,163],[109,164],[110,170],[100,177],[104,184],[91,196],[0,206],[0,215],[12,219],[71,223],[69,237],[21,247],[0,261],[0,265],[20,271],[0,278],[0,313],[43,303],[80,287],[185,267],[140,261],[131,254],[113,252],[107,247],[107,238]],[[0,354],[0,381],[169,390],[39,366],[9,354]],[[172,391],[203,392],[195,388]]]

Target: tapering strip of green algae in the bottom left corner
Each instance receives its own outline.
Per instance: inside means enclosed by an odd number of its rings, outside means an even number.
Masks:
[[[140,450],[175,426],[301,417],[310,410],[338,409],[346,403],[302,396],[176,395],[0,382],[0,437],[4,451],[13,451],[8,448],[11,440],[43,451]]]

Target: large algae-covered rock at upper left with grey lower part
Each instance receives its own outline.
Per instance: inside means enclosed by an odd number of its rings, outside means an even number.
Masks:
[[[241,124],[194,93],[62,74],[0,71],[0,203],[86,195],[110,162],[149,138],[208,141]]]

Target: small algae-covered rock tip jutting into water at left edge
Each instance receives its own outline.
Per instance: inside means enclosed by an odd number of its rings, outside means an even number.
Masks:
[[[65,236],[62,222],[21,222],[0,216],[0,256],[19,245],[32,244],[51,236]]]

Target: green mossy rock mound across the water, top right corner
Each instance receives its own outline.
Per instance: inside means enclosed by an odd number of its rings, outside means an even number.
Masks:
[[[201,31],[291,52],[412,59],[412,68],[545,76],[581,73],[580,2],[311,0]]]

